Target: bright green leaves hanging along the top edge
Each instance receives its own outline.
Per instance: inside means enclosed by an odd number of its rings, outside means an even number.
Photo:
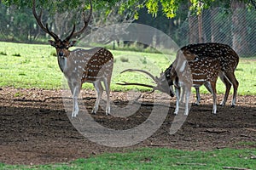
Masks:
[[[249,6],[253,6],[251,1],[243,0]],[[17,5],[19,8],[31,8],[32,2],[26,0],[3,0],[3,4],[5,5]],[[48,8],[50,11],[55,13],[55,11],[63,11],[67,9],[78,8],[80,4],[83,4],[82,0],[64,0],[64,1],[51,1],[51,0],[38,0],[40,4],[43,4],[44,8]],[[214,0],[190,0],[190,9],[194,10],[197,14],[201,14],[201,10],[203,8],[210,8],[215,4]],[[221,1],[224,2],[224,1]],[[98,10],[105,10],[105,14],[109,14],[115,4],[121,3],[119,6],[119,14],[122,14],[125,9],[129,8],[132,11],[138,10],[139,8],[143,8],[144,4],[148,8],[148,13],[153,16],[157,16],[157,13],[162,10],[164,14],[166,14],[167,18],[173,18],[176,16],[177,9],[181,6],[181,4],[188,3],[187,0],[96,0],[93,1],[93,6]],[[226,6],[227,3],[224,3],[224,8],[229,8]],[[88,6],[87,6],[88,7]],[[106,15],[106,16],[107,16]],[[137,18],[137,12],[135,13],[135,17]]]

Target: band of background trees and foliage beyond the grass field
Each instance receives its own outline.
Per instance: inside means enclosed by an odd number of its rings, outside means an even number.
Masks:
[[[38,0],[44,8],[43,22],[59,36],[65,36],[75,23],[81,23],[81,11],[89,8],[87,0]],[[239,54],[256,53],[254,0],[93,0],[90,30],[104,27],[104,42],[111,42],[119,29],[108,26],[137,22],[164,31],[178,45],[196,42],[224,42]],[[81,5],[82,4],[82,5]],[[32,42],[44,40],[32,17],[32,1],[2,0],[0,2],[0,39]],[[241,13],[241,11],[244,11]],[[200,17],[198,17],[200,16]],[[200,19],[201,21],[199,22]],[[150,37],[153,44],[160,39]]]

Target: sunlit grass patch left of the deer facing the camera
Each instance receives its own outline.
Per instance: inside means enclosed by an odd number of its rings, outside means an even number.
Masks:
[[[53,48],[47,45],[0,42],[0,86],[14,88],[61,88],[61,71]]]

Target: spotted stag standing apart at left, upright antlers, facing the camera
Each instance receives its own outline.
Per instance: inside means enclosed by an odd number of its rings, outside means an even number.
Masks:
[[[38,15],[36,12],[35,0],[33,0],[32,12],[38,22],[38,26],[42,30],[48,33],[54,38],[54,41],[49,40],[51,46],[55,47],[58,64],[61,71],[67,78],[68,86],[73,94],[73,113],[72,116],[77,116],[79,113],[79,93],[84,82],[92,82],[97,91],[96,104],[92,110],[92,113],[96,114],[99,107],[99,102],[102,97],[104,83],[107,93],[107,108],[106,115],[110,113],[109,93],[110,82],[113,71],[113,54],[111,54],[106,48],[91,48],[85,50],[82,48],[70,51],[68,48],[73,47],[76,41],[70,41],[71,38],[79,36],[84,32],[88,26],[91,14],[92,4],[90,1],[90,15],[86,19],[84,16],[84,26],[80,31],[75,32],[75,25],[73,25],[73,31],[63,41],[53,32],[49,31],[48,25],[41,21],[42,10]],[[83,12],[84,15],[84,12]]]

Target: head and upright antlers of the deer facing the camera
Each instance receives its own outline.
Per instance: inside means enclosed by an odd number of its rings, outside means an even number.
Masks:
[[[73,31],[71,31],[69,36],[66,37],[64,40],[61,40],[61,38],[58,37],[53,31],[49,31],[48,24],[46,24],[44,26],[44,24],[42,23],[42,20],[41,20],[43,10],[41,9],[40,14],[39,15],[37,14],[35,0],[33,0],[32,13],[33,13],[35,19],[38,22],[38,26],[40,26],[45,33],[48,33],[50,37],[54,38],[54,41],[49,40],[49,44],[56,48],[56,52],[57,52],[58,57],[63,58],[63,57],[67,57],[69,55],[70,52],[69,52],[68,48],[73,47],[73,45],[76,43],[76,41],[70,41],[70,39],[73,38],[73,37],[77,37],[80,34],[82,34],[84,32],[85,28],[88,26],[88,24],[90,22],[91,15],[92,15],[92,4],[91,4],[91,1],[90,1],[90,14],[89,14],[89,17],[87,19],[85,18],[85,15],[84,15],[84,12],[83,12],[83,18],[84,18],[83,28],[79,31],[75,31],[76,25],[74,24],[73,25]]]

